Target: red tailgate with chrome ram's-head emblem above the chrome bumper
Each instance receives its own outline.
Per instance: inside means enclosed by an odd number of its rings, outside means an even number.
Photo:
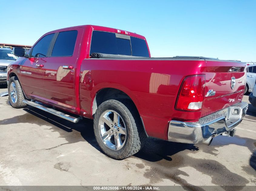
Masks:
[[[201,117],[241,102],[246,84],[245,63],[206,60],[206,64]]]

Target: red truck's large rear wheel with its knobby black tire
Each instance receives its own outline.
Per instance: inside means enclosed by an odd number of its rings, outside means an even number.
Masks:
[[[114,159],[137,153],[146,138],[138,111],[130,100],[101,103],[94,116],[93,128],[101,150]]]

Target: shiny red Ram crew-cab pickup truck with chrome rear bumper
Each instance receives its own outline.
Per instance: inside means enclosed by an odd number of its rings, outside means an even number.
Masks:
[[[234,136],[246,64],[205,57],[151,58],[145,37],[84,25],[44,34],[8,66],[9,100],[74,123],[94,120],[96,140],[115,159],[138,152],[147,136],[209,144]]]

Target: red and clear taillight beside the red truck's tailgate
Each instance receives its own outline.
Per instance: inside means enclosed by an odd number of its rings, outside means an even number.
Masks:
[[[204,100],[205,75],[186,77],[179,91],[175,109],[182,111],[201,111]]]

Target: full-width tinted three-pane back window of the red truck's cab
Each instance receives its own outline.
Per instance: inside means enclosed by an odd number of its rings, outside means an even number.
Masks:
[[[91,53],[149,57],[145,40],[97,30],[92,32]]]

